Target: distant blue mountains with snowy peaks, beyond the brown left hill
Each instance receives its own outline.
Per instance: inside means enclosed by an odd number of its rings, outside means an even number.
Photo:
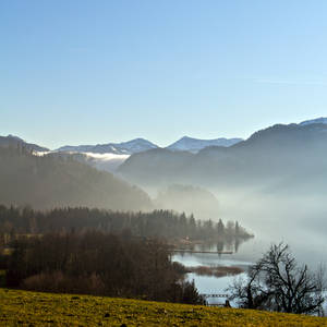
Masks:
[[[295,166],[296,170],[306,165],[316,171],[313,162],[318,165],[317,158],[322,158],[322,162],[325,160],[326,134],[327,118],[317,118],[299,124],[277,124],[255,132],[245,141],[184,136],[166,148],[144,138],[135,138],[122,143],[63,146],[51,152],[13,135],[0,136],[0,146],[22,145],[36,153],[72,155],[78,161],[99,170],[118,170],[124,178],[136,183],[169,180],[199,180],[204,183],[205,180],[215,182],[218,178],[222,183],[226,180],[240,182],[246,179],[245,171],[247,177],[253,178],[262,175],[263,171],[266,171],[266,177],[271,177],[279,169],[284,174],[290,165]],[[319,150],[322,153],[317,153]],[[279,168],[276,167],[278,162],[281,165]]]

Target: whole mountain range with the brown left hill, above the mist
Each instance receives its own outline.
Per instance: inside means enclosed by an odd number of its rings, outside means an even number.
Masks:
[[[223,142],[223,146],[217,146],[215,141],[183,137],[167,148],[159,148],[136,138],[96,145],[97,153],[81,146],[80,153],[72,148],[50,152],[13,135],[0,136],[0,198],[5,204],[28,203],[40,208],[87,205],[141,209],[150,208],[152,201],[142,189],[130,183],[157,191],[172,184],[204,187],[168,187],[157,198],[161,207],[171,206],[175,194],[182,194],[186,198],[184,203],[192,197],[198,204],[198,198],[204,197],[205,207],[208,203],[217,207],[215,199],[201,190],[250,186],[266,192],[278,190],[279,194],[290,190],[311,195],[327,192],[327,119],[276,124],[245,141],[229,146]],[[203,147],[208,144],[214,145]],[[106,153],[109,146],[117,153]],[[46,155],[35,156],[37,153]],[[113,159],[114,162],[110,161]],[[116,177],[99,171],[110,170],[109,161],[114,164],[114,169],[117,169]],[[174,207],[178,204],[177,198]]]

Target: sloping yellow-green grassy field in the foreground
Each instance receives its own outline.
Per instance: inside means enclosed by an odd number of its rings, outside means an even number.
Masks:
[[[327,318],[0,289],[1,326],[327,326]],[[124,325],[123,325],[124,326]]]

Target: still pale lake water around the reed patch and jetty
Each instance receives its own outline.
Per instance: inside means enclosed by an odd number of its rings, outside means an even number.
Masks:
[[[298,233],[299,234],[299,233]],[[323,254],[326,246],[315,246],[314,239],[281,239],[291,245],[291,251],[294,253],[296,259],[300,264],[307,263],[311,269],[316,269],[316,265],[319,263],[326,263],[324,261]],[[250,239],[247,242],[239,244],[238,252],[233,254],[221,254],[217,253],[175,253],[172,261],[179,262],[184,266],[238,266],[243,268],[245,271],[247,267],[255,263],[264,253],[267,252],[271,243],[281,241],[279,238],[271,235],[270,238],[257,237]],[[311,242],[305,242],[304,240],[311,240]],[[326,242],[325,242],[326,243]],[[196,250],[217,252],[217,244],[198,244],[195,246]],[[232,244],[223,244],[223,251],[231,250]],[[225,289],[232,282],[234,278],[245,277],[246,272],[240,274],[238,276],[226,276],[226,277],[213,277],[213,276],[198,276],[194,272],[187,274],[187,279],[194,279],[195,286],[199,293],[226,293]],[[223,303],[225,299],[208,299],[210,304]],[[233,304],[232,304],[233,305]],[[326,303],[327,305],[327,303]]]

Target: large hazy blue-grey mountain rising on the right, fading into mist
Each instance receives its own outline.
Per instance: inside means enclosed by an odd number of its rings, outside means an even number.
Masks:
[[[181,165],[182,164],[182,165]],[[119,171],[133,182],[237,186],[289,175],[310,179],[327,167],[327,125],[274,125],[230,147],[207,147],[182,158],[170,152],[131,156]],[[326,174],[326,172],[325,172]]]

